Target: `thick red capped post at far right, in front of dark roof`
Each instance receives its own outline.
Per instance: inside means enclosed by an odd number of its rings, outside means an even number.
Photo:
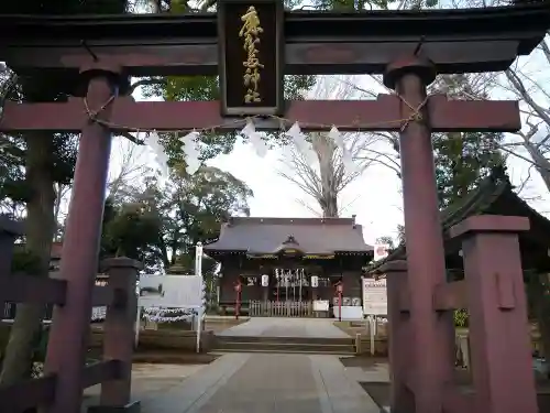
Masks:
[[[479,412],[538,412],[518,241],[528,229],[528,218],[484,215],[450,231],[463,238]]]

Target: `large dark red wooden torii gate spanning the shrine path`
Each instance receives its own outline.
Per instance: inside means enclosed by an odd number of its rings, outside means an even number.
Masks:
[[[327,130],[333,124],[342,131],[399,131],[409,276],[407,317],[413,328],[408,343],[413,368],[406,378],[414,394],[409,411],[440,413],[443,407],[451,409],[446,390],[452,382],[452,313],[436,313],[432,303],[446,269],[430,133],[513,132],[520,128],[520,119],[515,101],[453,101],[444,96],[427,97],[426,87],[437,73],[506,69],[517,55],[529,54],[543,39],[550,26],[548,8],[534,3],[466,11],[339,14],[284,12],[277,0],[224,0],[218,7],[218,18],[213,13],[0,15],[0,59],[21,73],[57,70],[68,79],[87,83],[85,99],[6,102],[0,121],[0,130],[6,132],[81,133],[61,268],[62,276],[68,280],[67,298],[56,311],[46,360],[46,370],[55,372],[59,383],[50,411],[80,409],[78,372],[85,341],[75,337],[87,334],[90,318],[112,132],[220,124],[226,126],[216,129],[227,130],[241,128],[242,118],[251,116],[265,129],[298,121],[304,130]],[[252,87],[255,80],[250,76],[256,66],[243,51],[239,35],[241,18],[250,7],[255,8],[263,29],[257,54],[252,53],[252,58],[258,57],[264,65],[258,87]],[[41,33],[41,37],[28,37],[29,32]],[[252,70],[248,85],[243,85],[245,68]],[[128,76],[213,75],[218,69],[221,102],[135,102],[125,95]],[[381,73],[396,95],[381,95],[374,101],[282,99],[284,74]],[[251,88],[262,101],[248,101]],[[231,126],[227,126],[228,116],[237,119]],[[277,116],[284,120],[274,118]],[[68,347],[67,337],[74,338]],[[519,340],[515,349],[522,355],[526,341]],[[516,390],[526,395],[512,406],[535,413],[531,371],[524,365],[514,374],[516,383],[524,383]],[[498,413],[513,412],[505,404],[499,407]]]

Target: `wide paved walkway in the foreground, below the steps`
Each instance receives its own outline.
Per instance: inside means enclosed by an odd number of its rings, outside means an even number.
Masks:
[[[142,413],[380,412],[336,356],[230,354],[204,367],[140,368],[134,378]],[[87,404],[98,390],[87,390]]]

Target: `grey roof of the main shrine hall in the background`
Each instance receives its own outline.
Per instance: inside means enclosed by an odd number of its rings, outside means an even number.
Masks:
[[[221,227],[219,240],[206,252],[274,254],[285,248],[304,254],[372,253],[355,218],[243,218],[233,217]]]

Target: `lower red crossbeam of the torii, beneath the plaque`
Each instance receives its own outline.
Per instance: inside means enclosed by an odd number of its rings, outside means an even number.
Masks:
[[[292,101],[283,117],[257,117],[256,129],[280,130],[299,122],[306,131],[327,131],[336,126],[341,131],[399,131],[406,119],[402,99],[380,95],[376,100],[305,100]],[[102,105],[101,105],[102,106]],[[100,107],[101,107],[100,106]],[[427,112],[433,132],[519,130],[516,101],[448,100],[444,95],[430,96]],[[99,108],[89,108],[90,111]],[[67,102],[7,102],[0,120],[2,131],[43,130],[80,132],[92,118],[81,98]],[[189,131],[212,129],[228,132],[244,127],[246,119],[220,116],[218,101],[140,101],[131,96],[114,98],[102,119],[117,131]]]

